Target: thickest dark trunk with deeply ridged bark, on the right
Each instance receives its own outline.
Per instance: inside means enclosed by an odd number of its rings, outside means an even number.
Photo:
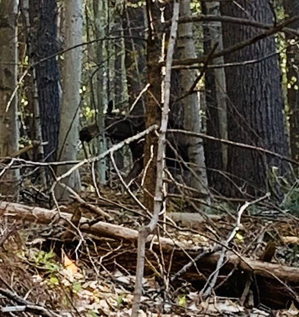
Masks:
[[[252,18],[272,23],[273,14],[267,0],[252,0],[222,4],[222,14]],[[225,23],[224,49],[259,33],[258,29]],[[274,36],[263,39],[235,53],[226,55],[225,62],[263,58],[275,52]],[[258,63],[226,68],[228,102],[228,139],[261,146],[287,155],[287,138],[283,126],[283,100],[277,56]],[[226,186],[229,195],[243,192],[252,195],[269,190],[268,177],[272,166],[285,172],[282,162],[257,151],[238,147],[228,149],[228,172],[232,182]],[[279,193],[278,193],[279,194]]]

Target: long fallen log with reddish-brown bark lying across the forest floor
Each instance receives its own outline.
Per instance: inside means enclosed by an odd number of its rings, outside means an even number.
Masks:
[[[15,219],[22,219],[29,222],[36,222],[42,224],[49,224],[53,220],[57,222],[71,220],[72,215],[65,212],[58,212],[57,210],[48,210],[40,207],[31,207],[23,204],[1,202],[0,203],[0,217],[11,217]],[[118,240],[127,240],[137,242],[138,231],[120,225],[115,225],[111,223],[105,223],[99,221],[92,225],[89,225],[90,220],[81,217],[79,228],[82,232],[92,234],[99,237],[108,237]],[[148,237],[148,242],[152,241],[153,235]],[[190,239],[192,237],[190,236]],[[181,243],[174,241],[170,238],[159,237],[160,247],[164,252],[172,252],[175,248],[175,256],[179,259],[180,265],[185,262],[190,261],[189,257],[186,255],[188,253],[192,258],[194,258],[198,253],[206,249],[206,245],[202,247],[192,246],[190,244]],[[156,240],[155,244],[158,244]],[[184,252],[183,252],[184,251]],[[204,256],[198,261],[199,264],[210,265],[211,269],[216,265],[220,252],[214,252],[213,254]],[[173,271],[177,270],[178,267],[172,263]],[[247,257],[241,257],[233,253],[232,251],[227,252],[227,262],[225,264],[228,268],[235,267],[240,270],[247,272],[254,272],[256,275],[260,275],[266,278],[275,279],[276,277],[282,281],[288,281],[292,283],[299,283],[299,268],[283,266],[274,263],[262,262],[258,260],[251,260]]]

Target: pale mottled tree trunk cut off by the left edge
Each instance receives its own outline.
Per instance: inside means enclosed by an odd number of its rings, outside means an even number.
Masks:
[[[0,157],[18,150],[19,128],[17,94],[7,109],[17,84],[17,17],[18,0],[0,2]],[[0,193],[18,193],[19,169],[6,171],[0,180]]]

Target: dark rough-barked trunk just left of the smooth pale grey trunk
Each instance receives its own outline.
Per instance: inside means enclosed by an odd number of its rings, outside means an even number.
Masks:
[[[31,25],[30,57],[40,59],[57,53],[57,8],[55,0],[29,0]],[[47,161],[56,159],[60,126],[59,71],[55,57],[36,65],[36,82],[40,108],[42,138]]]

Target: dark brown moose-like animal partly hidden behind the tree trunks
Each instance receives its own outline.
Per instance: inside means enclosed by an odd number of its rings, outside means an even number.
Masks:
[[[133,135],[146,129],[144,120],[136,120],[134,117],[124,116],[121,114],[112,113],[113,102],[109,101],[107,108],[107,115],[105,118],[106,135],[110,137],[113,143],[123,141]],[[181,128],[172,126],[171,128]],[[80,133],[80,140],[89,142],[95,136],[99,134],[99,128],[96,123],[84,127]],[[187,144],[185,139],[174,138],[173,135],[167,134],[167,140],[171,143],[171,146],[166,144],[166,165],[172,168],[185,169],[185,165],[181,164],[181,159],[188,162]],[[143,169],[143,154],[144,154],[145,139],[140,139],[129,144],[129,148],[133,158],[133,168],[126,177],[126,181],[129,182],[132,179],[138,177]],[[174,148],[174,151],[172,149]]]

